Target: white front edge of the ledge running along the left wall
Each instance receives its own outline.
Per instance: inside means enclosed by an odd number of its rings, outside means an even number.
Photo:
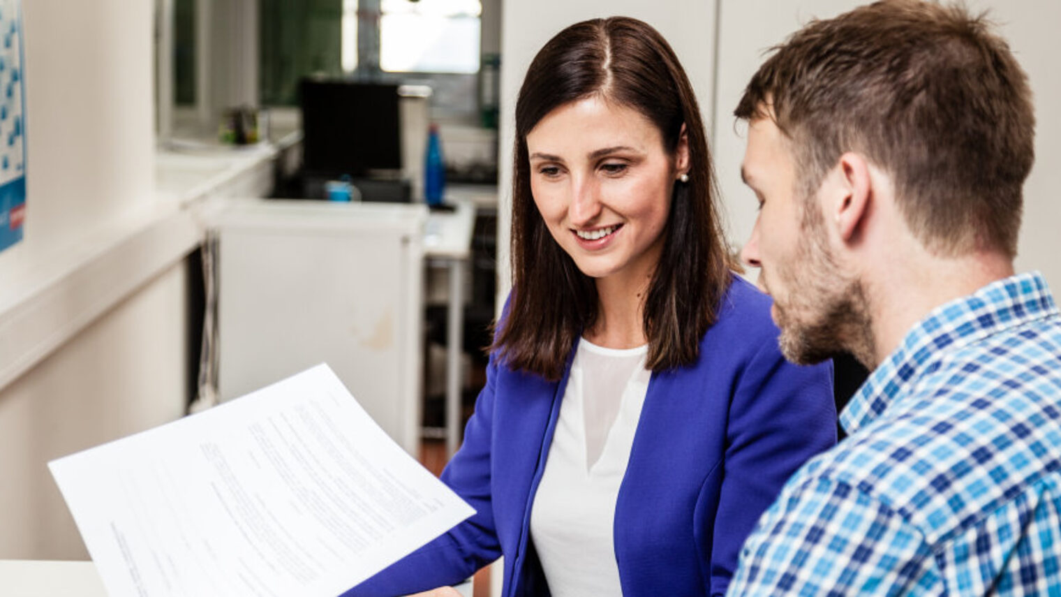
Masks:
[[[191,215],[174,210],[110,235],[95,251],[80,248],[84,258],[0,303],[0,389],[182,260],[201,237]]]

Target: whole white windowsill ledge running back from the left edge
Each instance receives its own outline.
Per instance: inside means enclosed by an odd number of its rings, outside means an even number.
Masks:
[[[299,138],[290,131],[281,142]],[[272,143],[160,150],[143,209],[25,260],[0,288],[0,389],[177,266],[202,241],[212,199],[264,194],[279,153]]]

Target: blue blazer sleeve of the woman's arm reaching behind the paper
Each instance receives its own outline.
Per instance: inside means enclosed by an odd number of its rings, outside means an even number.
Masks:
[[[393,597],[457,584],[497,560],[501,548],[490,502],[490,444],[498,364],[486,371],[486,387],[465,427],[464,443],[447,464],[441,480],[464,498],[475,514],[342,597]]]

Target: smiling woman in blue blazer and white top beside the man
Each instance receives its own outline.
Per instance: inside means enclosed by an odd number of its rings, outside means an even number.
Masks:
[[[442,474],[477,513],[348,595],[502,555],[505,595],[721,595],[782,483],[835,442],[830,368],[785,362],[769,301],[730,272],[692,87],[647,24],[541,49],[514,159],[515,289]]]

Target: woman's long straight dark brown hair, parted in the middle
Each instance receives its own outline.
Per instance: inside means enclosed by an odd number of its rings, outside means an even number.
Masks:
[[[685,125],[689,182],[674,185],[663,253],[644,298],[650,370],[696,361],[730,283],[703,123],[674,51],[655,29],[631,18],[564,29],[535,56],[516,102],[514,292],[490,347],[507,366],[553,380],[567,366],[575,340],[596,321],[597,294],[535,206],[526,138],[552,110],[594,95],[645,116],[659,129],[668,155],[675,155]]]

